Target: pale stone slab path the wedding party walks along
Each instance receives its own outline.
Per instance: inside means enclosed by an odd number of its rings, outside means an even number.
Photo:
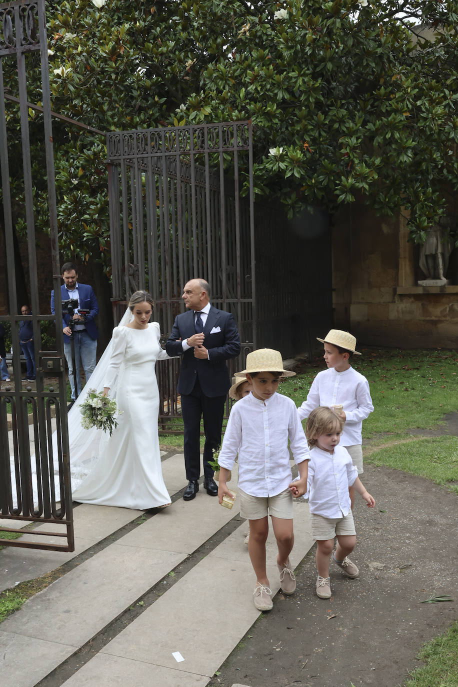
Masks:
[[[0,551],[1,589],[63,573],[0,624],[2,687],[204,687],[247,633],[260,613],[237,500],[221,508],[201,488],[184,502],[183,455],[164,453],[163,473],[170,508],[80,504],[73,553]],[[295,503],[295,565],[313,543],[307,509]],[[274,594],[275,550],[270,535]]]

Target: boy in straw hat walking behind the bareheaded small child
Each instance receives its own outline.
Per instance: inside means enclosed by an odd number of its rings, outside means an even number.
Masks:
[[[353,355],[360,355],[355,350],[356,338],[341,329],[331,329],[324,339],[324,355],[328,370],[319,372],[312,382],[307,400],[299,407],[301,420],[308,418],[312,410],[320,405],[334,409],[345,425],[340,444],[352,456],[358,474],[363,470],[363,420],[374,410],[369,383],[363,374],[356,372],[350,365]],[[352,508],[354,489],[350,487]]]

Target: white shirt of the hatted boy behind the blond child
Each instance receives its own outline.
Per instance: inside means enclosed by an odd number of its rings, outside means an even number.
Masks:
[[[341,433],[341,446],[354,446],[363,443],[361,431],[363,420],[374,410],[369,382],[352,367],[343,372],[334,368],[321,370],[315,377],[307,395],[307,400],[299,407],[301,420],[308,418],[319,405],[343,405],[346,420]]]

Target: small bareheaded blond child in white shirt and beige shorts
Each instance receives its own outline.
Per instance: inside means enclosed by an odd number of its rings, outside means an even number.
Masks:
[[[306,436],[310,446],[308,464],[308,506],[312,521],[312,538],[317,540],[317,596],[328,599],[330,587],[329,561],[334,548],[334,563],[348,577],[358,576],[358,568],[348,556],[356,545],[349,486],[363,497],[369,508],[374,498],[360,482],[358,469],[352,463],[347,449],[339,446],[343,420],[328,407],[319,407],[310,413],[306,423]]]

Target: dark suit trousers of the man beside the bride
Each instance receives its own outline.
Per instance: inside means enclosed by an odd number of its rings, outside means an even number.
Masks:
[[[225,414],[226,396],[205,396],[198,380],[190,394],[181,394],[181,415],[185,425],[185,468],[187,480],[198,480],[201,476],[201,418],[205,433],[203,449],[203,474],[213,477],[214,471],[208,464],[213,460],[213,449],[221,444],[222,418]]]

